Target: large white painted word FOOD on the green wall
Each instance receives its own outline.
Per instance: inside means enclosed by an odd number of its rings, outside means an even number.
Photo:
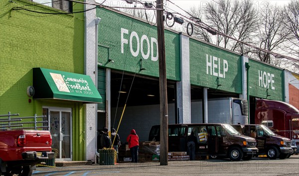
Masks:
[[[130,52],[134,57],[141,54],[144,59],[149,59],[150,55],[152,61],[158,60],[158,41],[156,38],[149,38],[147,35],[142,35],[140,38],[135,31],[132,31],[129,37],[129,30],[121,28],[121,52],[123,54],[125,44],[130,45]]]

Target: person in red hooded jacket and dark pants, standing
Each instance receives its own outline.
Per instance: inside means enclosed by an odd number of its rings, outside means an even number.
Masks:
[[[131,134],[127,137],[127,142],[129,143],[129,148],[131,152],[131,162],[138,163],[139,137],[134,129],[131,130]]]

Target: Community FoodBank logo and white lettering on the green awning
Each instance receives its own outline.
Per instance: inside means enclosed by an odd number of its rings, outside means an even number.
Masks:
[[[58,91],[94,94],[89,88],[88,81],[83,78],[71,78],[65,75],[50,73]]]

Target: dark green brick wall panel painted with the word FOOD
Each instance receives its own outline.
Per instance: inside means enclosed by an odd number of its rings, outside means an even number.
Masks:
[[[97,8],[97,16],[102,19],[99,23],[98,41],[98,62],[102,67],[159,76],[157,58],[151,59],[152,56],[157,56],[157,45],[153,42],[157,40],[156,26],[104,8]],[[180,81],[179,34],[168,30],[164,33],[167,79]],[[142,51],[145,56],[142,56]],[[109,59],[114,62],[109,62]],[[147,70],[141,71],[141,68]]]

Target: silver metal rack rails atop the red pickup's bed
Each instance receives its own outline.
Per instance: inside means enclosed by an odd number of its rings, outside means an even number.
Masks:
[[[0,115],[0,131],[1,130],[15,130],[15,129],[42,129],[42,130],[49,130],[50,126],[46,118],[46,115],[37,116],[28,116],[28,117],[15,117],[19,114],[8,114]],[[6,117],[6,118],[2,118]],[[23,122],[21,122],[23,119]],[[40,126],[38,126],[40,125]]]

